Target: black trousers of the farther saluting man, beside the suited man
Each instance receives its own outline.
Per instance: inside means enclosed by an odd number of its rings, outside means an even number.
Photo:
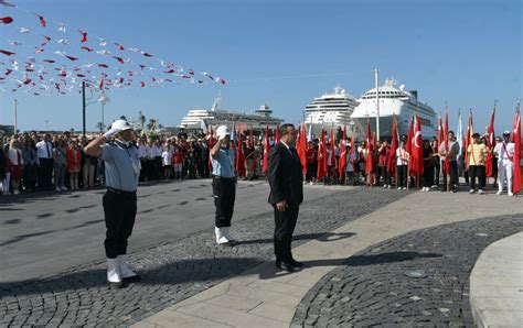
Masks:
[[[213,196],[216,207],[214,219],[216,228],[231,227],[236,198],[236,179],[214,176]]]

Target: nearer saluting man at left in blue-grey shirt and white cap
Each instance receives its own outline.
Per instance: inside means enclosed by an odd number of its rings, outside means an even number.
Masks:
[[[111,139],[114,142],[106,143]],[[132,233],[137,209],[136,189],[140,175],[138,147],[132,144],[135,132],[126,120],[116,120],[108,132],[85,147],[88,155],[105,161],[107,193],[103,205],[107,228],[104,242],[107,256],[107,282],[121,288],[140,276],[127,265],[127,240]]]

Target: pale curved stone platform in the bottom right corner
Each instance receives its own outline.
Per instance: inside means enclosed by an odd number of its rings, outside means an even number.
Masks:
[[[470,274],[470,305],[479,327],[523,326],[523,232],[481,253]]]

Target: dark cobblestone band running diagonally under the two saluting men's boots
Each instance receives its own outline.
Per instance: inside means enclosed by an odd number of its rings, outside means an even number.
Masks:
[[[293,245],[403,197],[374,188],[337,193],[302,205]],[[175,227],[172,227],[175,229]],[[221,281],[273,259],[271,212],[235,225],[235,248],[216,247],[212,231],[193,233],[130,254],[142,282],[108,289],[105,263],[72,269],[41,281],[0,284],[0,326],[128,326]]]

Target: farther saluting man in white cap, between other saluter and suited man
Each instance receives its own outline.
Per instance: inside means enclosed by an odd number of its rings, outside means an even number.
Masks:
[[[220,245],[234,245],[231,237],[231,219],[236,198],[235,154],[231,145],[231,132],[226,125],[216,130],[217,142],[210,154],[213,163],[213,196],[216,207],[214,233]]]

